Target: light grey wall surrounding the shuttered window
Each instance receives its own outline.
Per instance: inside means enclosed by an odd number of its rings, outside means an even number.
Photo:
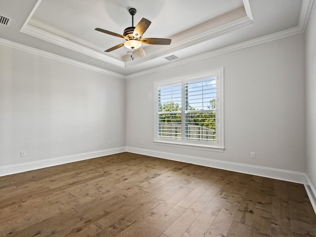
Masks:
[[[126,146],[305,172],[304,50],[299,34],[127,80]],[[219,67],[224,153],[154,144],[154,81]]]

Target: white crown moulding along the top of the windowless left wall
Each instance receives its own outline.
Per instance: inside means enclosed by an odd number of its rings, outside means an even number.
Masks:
[[[33,53],[42,57],[46,57],[46,58],[50,58],[50,59],[54,59],[60,62],[64,62],[64,63],[68,63],[74,66],[78,66],[81,68],[85,68],[85,69],[89,69],[95,72],[99,72],[99,73],[103,73],[109,76],[113,76],[113,77],[117,77],[117,78],[121,78],[121,79],[125,79],[126,77],[124,75],[103,69],[103,68],[98,68],[95,66],[92,66],[90,64],[86,64],[86,63],[82,63],[70,58],[66,58],[57,54],[53,54],[53,53],[49,53],[37,48],[32,48],[30,46],[26,46],[20,43],[16,43],[16,42],[12,42],[9,40],[4,40],[0,38],[0,45],[6,46],[6,47],[10,47],[10,48],[14,48],[14,49],[18,49],[18,50],[22,50],[24,52],[28,52],[28,53]]]

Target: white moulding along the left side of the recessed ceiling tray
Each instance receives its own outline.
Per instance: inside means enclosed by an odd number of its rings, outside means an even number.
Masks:
[[[121,60],[118,60],[116,58],[113,58],[111,56],[105,55],[103,53],[100,53],[96,50],[93,50],[91,48],[85,47],[79,43],[75,43],[71,40],[66,40],[62,37],[56,36],[54,34],[51,34],[47,31],[43,31],[39,28],[36,28],[31,25],[24,25],[20,32],[25,33],[27,35],[39,38],[41,40],[45,40],[47,42],[51,42],[54,44],[57,44],[59,46],[74,50],[76,52],[82,53],[84,55],[99,59],[101,61],[111,63],[115,66],[125,68],[125,63]]]

